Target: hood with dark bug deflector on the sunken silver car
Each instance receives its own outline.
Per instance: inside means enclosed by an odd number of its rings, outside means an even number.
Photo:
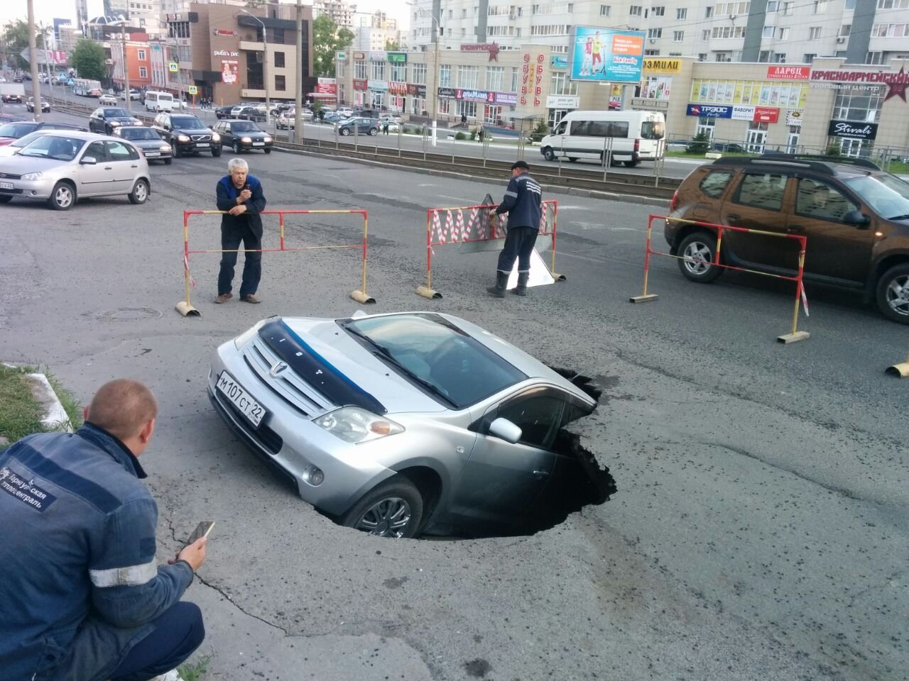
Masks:
[[[266,322],[259,330],[259,336],[276,352],[292,343],[299,346],[280,356],[302,379],[316,390],[324,391],[335,404],[358,404],[388,414],[447,410],[444,404],[376,358],[335,320],[277,318]],[[302,354],[297,355],[297,352]],[[316,384],[316,380],[322,381],[323,385]]]

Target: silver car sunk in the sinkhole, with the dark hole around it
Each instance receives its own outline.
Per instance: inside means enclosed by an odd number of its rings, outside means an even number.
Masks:
[[[520,531],[608,497],[564,430],[596,407],[583,384],[451,315],[357,313],[260,321],[216,350],[208,393],[315,508],[414,537]]]

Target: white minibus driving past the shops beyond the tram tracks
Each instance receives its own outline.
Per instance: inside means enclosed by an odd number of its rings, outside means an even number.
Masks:
[[[656,161],[665,151],[666,122],[653,111],[572,111],[555,123],[540,142],[546,161],[594,159],[624,163],[629,168]]]

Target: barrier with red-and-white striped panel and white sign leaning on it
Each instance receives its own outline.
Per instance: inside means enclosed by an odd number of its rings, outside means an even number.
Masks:
[[[494,242],[504,240],[505,225],[497,215],[491,215],[494,204],[455,206],[454,208],[430,208],[426,211],[426,283],[417,286],[416,293],[424,298],[442,298],[433,289],[433,247],[446,243],[470,244],[469,252],[493,250]],[[546,267],[539,253],[534,250],[531,257],[531,286],[540,283],[564,281],[564,275],[555,271],[555,232],[558,218],[558,204],[554,200],[543,202],[539,236],[549,237],[546,247],[552,247],[549,267]],[[484,248],[488,244],[490,248]],[[541,281],[544,278],[545,281]]]

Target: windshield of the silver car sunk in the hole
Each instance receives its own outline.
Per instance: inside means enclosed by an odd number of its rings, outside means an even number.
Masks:
[[[526,379],[482,343],[432,313],[341,322],[406,378],[464,409]]]

